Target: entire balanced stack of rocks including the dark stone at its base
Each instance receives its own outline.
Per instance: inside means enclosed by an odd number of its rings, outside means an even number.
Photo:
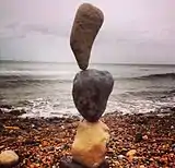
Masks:
[[[114,80],[109,72],[88,69],[94,39],[103,24],[103,12],[83,3],[78,9],[70,45],[81,70],[73,80],[72,96],[82,120],[72,144],[72,158],[60,161],[60,168],[108,168],[105,161],[109,129],[100,120],[104,113]],[[88,69],[88,70],[86,70]]]

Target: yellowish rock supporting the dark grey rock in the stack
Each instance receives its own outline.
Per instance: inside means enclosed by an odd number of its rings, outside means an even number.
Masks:
[[[72,145],[73,159],[90,168],[98,167],[105,159],[108,141],[109,129],[105,123],[81,121]]]

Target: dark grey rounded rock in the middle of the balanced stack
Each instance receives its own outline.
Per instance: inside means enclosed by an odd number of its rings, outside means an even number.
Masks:
[[[106,109],[114,85],[107,71],[85,70],[77,73],[72,95],[77,109],[90,122],[97,121]]]

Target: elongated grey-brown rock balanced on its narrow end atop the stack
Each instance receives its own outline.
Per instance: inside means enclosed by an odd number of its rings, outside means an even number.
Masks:
[[[70,46],[82,70],[89,67],[92,45],[103,21],[103,12],[92,4],[83,3],[77,11],[70,36]]]

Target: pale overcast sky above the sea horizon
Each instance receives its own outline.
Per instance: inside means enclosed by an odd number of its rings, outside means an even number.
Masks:
[[[92,62],[175,63],[175,0],[0,0],[0,59],[74,62],[69,35],[82,2],[105,15]]]

